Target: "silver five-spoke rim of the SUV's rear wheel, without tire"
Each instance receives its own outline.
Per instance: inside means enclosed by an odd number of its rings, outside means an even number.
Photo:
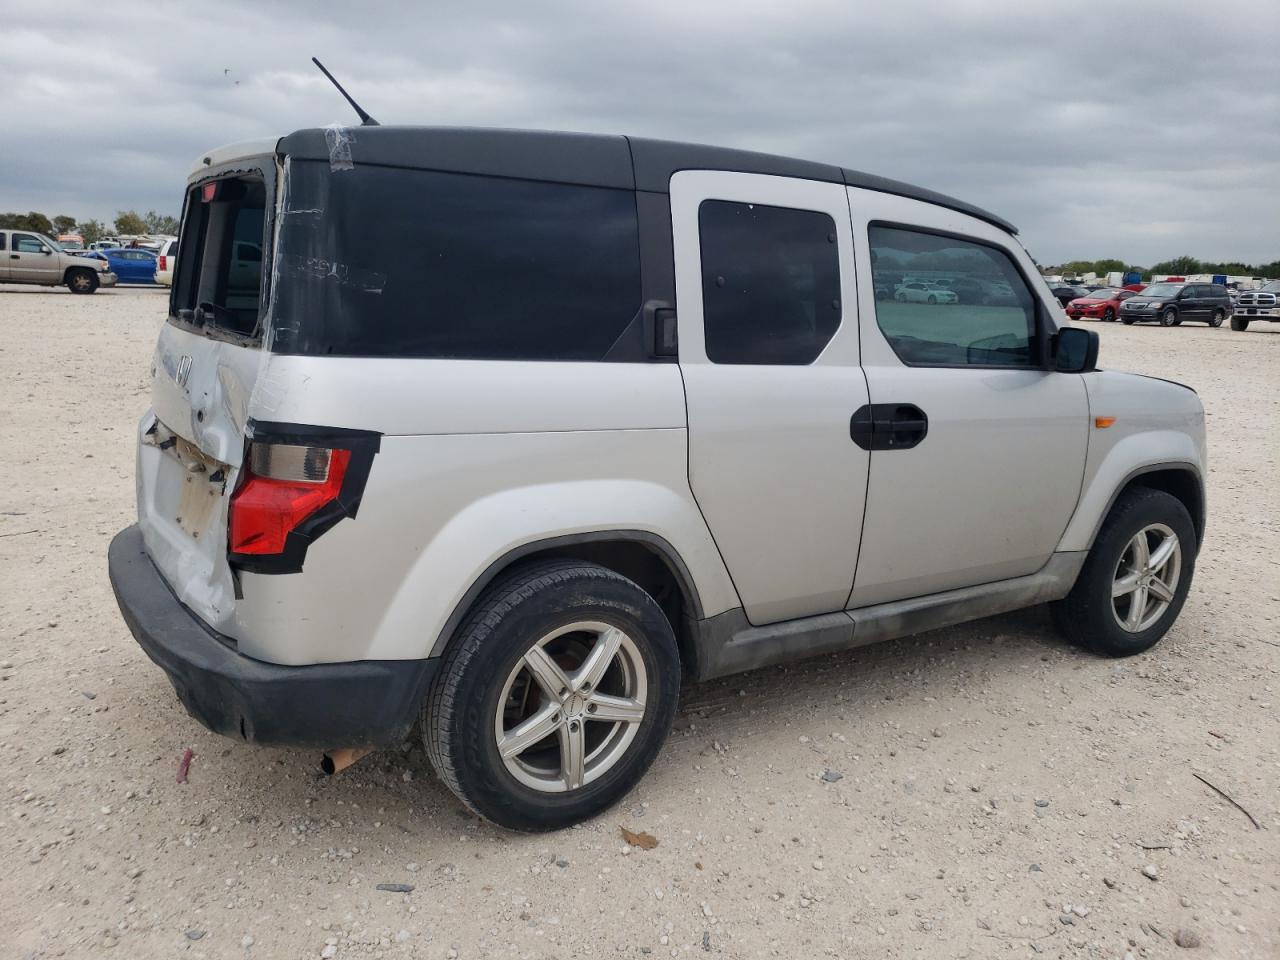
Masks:
[[[558,627],[512,668],[494,717],[498,755],[527,787],[577,790],[608,773],[640,731],[649,680],[635,641],[600,622]]]

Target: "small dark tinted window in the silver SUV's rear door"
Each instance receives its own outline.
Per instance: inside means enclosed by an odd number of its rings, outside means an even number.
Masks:
[[[703,329],[713,364],[812,364],[840,326],[836,223],[813,210],[704,200]]]

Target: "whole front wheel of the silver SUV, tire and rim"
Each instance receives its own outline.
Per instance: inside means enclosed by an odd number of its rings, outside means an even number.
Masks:
[[[1196,527],[1162,490],[1123,494],[1065,599],[1051,604],[1059,630],[1103,657],[1149,650],[1169,632],[1196,572]]]

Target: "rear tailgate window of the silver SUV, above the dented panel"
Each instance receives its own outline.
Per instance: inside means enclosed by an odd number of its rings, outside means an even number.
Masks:
[[[259,177],[230,177],[191,189],[182,244],[193,255],[178,265],[172,300],[179,317],[242,337],[260,332],[266,209],[266,183]],[[127,256],[155,261],[141,252]]]

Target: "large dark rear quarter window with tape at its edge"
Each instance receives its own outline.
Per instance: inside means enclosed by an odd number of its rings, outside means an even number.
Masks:
[[[631,191],[300,160],[285,191],[275,351],[596,361],[640,310]]]

